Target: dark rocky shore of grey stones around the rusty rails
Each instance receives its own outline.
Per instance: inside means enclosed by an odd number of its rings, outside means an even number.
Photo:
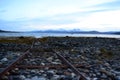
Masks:
[[[21,38],[20,38],[21,39]],[[32,39],[33,40],[33,39]],[[30,40],[27,40],[30,41]],[[0,42],[0,70],[30,47],[28,43]],[[64,64],[55,53],[63,55],[88,80],[120,80],[120,40],[98,37],[38,38],[27,55],[16,66],[48,66]],[[11,57],[11,58],[9,58]],[[78,80],[70,68],[14,68],[4,79],[12,80]]]

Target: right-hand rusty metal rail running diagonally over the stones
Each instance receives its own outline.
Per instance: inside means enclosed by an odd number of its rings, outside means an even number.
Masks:
[[[55,52],[55,51],[53,51],[53,52]],[[57,53],[57,52],[55,52],[55,53],[56,53],[56,55],[58,56],[58,58],[63,61],[63,63],[65,63],[67,66],[69,66],[69,67],[73,70],[73,72],[74,72],[76,75],[79,76],[79,80],[87,80],[87,78],[86,78],[83,74],[81,74],[81,73],[79,72],[79,70],[78,70],[74,65],[72,65],[68,60],[66,60],[66,59],[65,59],[62,55],[60,55],[59,53]]]

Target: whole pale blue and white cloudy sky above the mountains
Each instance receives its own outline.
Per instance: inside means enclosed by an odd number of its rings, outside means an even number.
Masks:
[[[0,0],[0,29],[120,31],[120,0]]]

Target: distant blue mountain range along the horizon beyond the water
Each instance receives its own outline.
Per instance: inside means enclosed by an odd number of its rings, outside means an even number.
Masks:
[[[0,30],[0,33],[18,33],[15,31],[5,31],[5,30]],[[80,29],[72,29],[72,30],[64,30],[64,29],[58,29],[58,30],[36,30],[36,31],[29,31],[29,33],[34,32],[34,33],[77,33],[77,34],[120,34],[120,32],[98,32],[98,31],[81,31]]]

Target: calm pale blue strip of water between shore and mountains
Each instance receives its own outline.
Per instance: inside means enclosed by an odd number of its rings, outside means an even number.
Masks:
[[[36,38],[46,36],[73,36],[73,37],[108,37],[120,38],[120,35],[114,34],[70,34],[70,33],[0,33],[0,37],[19,37],[19,36],[33,36]]]

